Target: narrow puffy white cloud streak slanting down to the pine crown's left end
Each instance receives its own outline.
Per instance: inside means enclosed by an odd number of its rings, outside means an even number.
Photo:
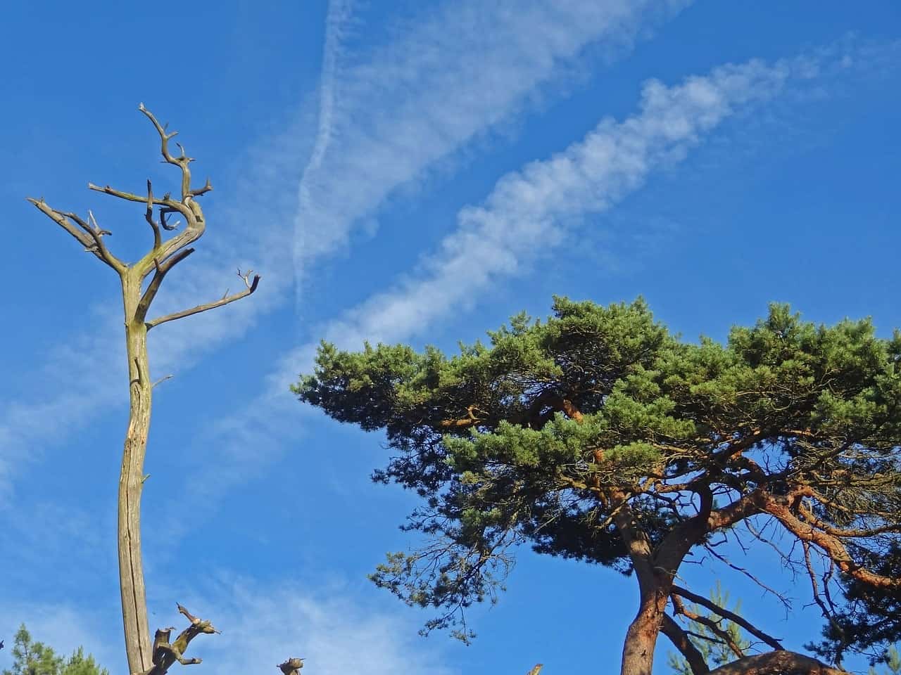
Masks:
[[[422,336],[437,322],[478,302],[492,284],[527,273],[568,238],[578,241],[604,227],[592,218],[640,189],[653,171],[677,164],[730,116],[743,114],[745,121],[752,121],[761,103],[787,92],[800,95],[805,86],[828,86],[829,79],[848,67],[847,53],[827,49],[772,64],[751,60],[725,65],[673,86],[651,80],[643,86],[633,116],[624,121],[605,118],[562,152],[503,176],[484,202],[460,210],[457,229],[423,257],[412,274],[315,332],[350,349],[364,340],[396,342]],[[615,238],[616,233],[608,236]],[[207,430],[216,442],[205,437],[203,445],[217,447],[221,455],[199,467],[203,479],[198,483],[221,491],[244,480],[251,467],[242,448],[257,448],[258,471],[266,453],[277,452],[279,433],[287,432],[278,416],[291,420],[296,430],[298,406],[287,393],[288,385],[296,382],[298,373],[312,370],[315,349],[311,342],[282,356],[268,375],[266,391],[248,406],[248,413],[232,415]]]

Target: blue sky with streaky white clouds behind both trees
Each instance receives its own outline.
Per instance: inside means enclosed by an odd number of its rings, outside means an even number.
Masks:
[[[365,579],[412,544],[396,526],[415,500],[369,482],[378,435],[287,392],[320,338],[453,348],[553,293],[643,294],[687,338],[774,300],[901,326],[891,0],[32,2],[3,32],[7,643],[24,621],[125,667],[118,281],[24,197],[91,208],[120,257],[144,251],[141,209],[86,190],[175,180],[139,102],[214,184],[159,311],[234,290],[236,267],[263,276],[150,339],[154,374],[174,375],[147,459],[150,622],[171,625],[176,601],[212,619],[223,635],[192,652],[225,675],[289,654],[322,675],[615,671],[633,615],[633,581],[523,550],[496,608],[471,613],[472,647],[418,637],[428,615]],[[755,562],[797,599],[789,620],[728,572],[687,581],[721,576],[788,645],[815,638],[805,587]]]

